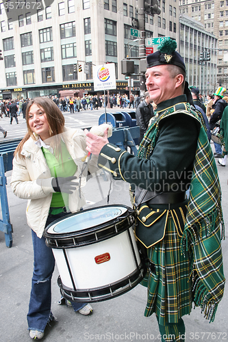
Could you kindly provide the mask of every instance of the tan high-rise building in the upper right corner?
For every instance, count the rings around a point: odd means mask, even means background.
[[[216,86],[228,89],[228,0],[179,0],[180,14],[203,24],[218,40],[216,47]],[[211,53],[212,53],[211,49]]]

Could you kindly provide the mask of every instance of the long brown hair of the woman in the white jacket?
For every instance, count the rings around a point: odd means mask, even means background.
[[[55,105],[55,103],[51,100],[51,98],[48,97],[36,97],[33,98],[29,103],[27,104],[26,108],[26,123],[27,123],[27,133],[25,134],[25,137],[23,137],[23,140],[18,144],[16,147],[16,150],[14,152],[14,157],[24,157],[21,155],[21,151],[23,148],[23,145],[27,140],[29,140],[29,137],[32,137],[35,140],[33,131],[31,131],[31,128],[29,126],[29,110],[32,105],[38,105],[38,107],[42,107],[44,109],[46,115],[47,115],[47,122],[49,124],[49,133],[51,137],[54,137],[53,142],[51,143],[51,146],[53,145],[55,148],[59,148],[60,146],[60,133],[64,131],[64,123],[65,119],[62,115],[62,111],[60,108]]]

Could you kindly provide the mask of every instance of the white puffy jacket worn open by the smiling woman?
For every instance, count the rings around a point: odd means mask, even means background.
[[[77,176],[76,181],[78,181],[81,170],[84,167],[85,157],[88,154],[86,150],[86,135],[81,129],[65,129],[64,133],[62,133],[62,139],[77,165],[75,176]],[[10,185],[16,196],[28,200],[26,210],[27,224],[41,238],[51,205],[53,194],[51,181],[53,177],[51,177],[51,172],[41,148],[35,144],[31,137],[23,145],[21,154],[25,158],[14,157]],[[84,170],[84,175],[81,177],[81,186],[86,185],[88,170],[91,174],[98,170],[97,159],[98,156],[92,155],[88,168]],[[82,192],[81,198],[79,198],[78,187],[68,197],[68,206],[73,213],[78,211],[85,202]]]

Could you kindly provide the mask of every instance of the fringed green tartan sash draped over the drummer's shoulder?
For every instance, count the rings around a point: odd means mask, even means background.
[[[151,124],[140,144],[138,157],[149,159],[153,153],[159,133],[159,122],[162,118],[182,112],[194,116],[201,122],[201,118],[192,107],[188,103],[185,105],[187,105],[187,111],[175,111],[175,107],[170,107]],[[201,122],[181,250],[183,253],[188,250],[192,258],[194,304],[201,306],[205,318],[210,321],[214,321],[225,287],[220,244],[221,239],[224,238],[225,228],[218,171],[205,127]]]

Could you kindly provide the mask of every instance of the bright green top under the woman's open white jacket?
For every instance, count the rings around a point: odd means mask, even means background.
[[[58,157],[50,152],[48,148],[42,147],[42,153],[45,155],[47,165],[51,171],[52,177],[73,176],[77,171],[77,165],[71,158],[66,148],[66,144],[61,140],[61,152]],[[54,192],[51,200],[51,207],[68,207],[68,194],[64,192]]]

